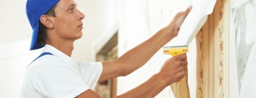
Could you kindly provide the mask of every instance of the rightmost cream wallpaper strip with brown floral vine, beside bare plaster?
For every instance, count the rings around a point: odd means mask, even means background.
[[[229,0],[217,0],[214,13],[214,98],[228,98]]]

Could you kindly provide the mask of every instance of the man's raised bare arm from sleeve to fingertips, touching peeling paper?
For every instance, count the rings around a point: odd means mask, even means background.
[[[103,71],[98,82],[118,76],[126,76],[146,64],[160,48],[178,35],[180,25],[190,11],[191,8],[185,12],[177,13],[169,25],[162,28],[150,39],[130,49],[118,59],[102,62]]]

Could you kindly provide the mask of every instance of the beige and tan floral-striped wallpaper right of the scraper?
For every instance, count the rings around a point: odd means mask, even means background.
[[[196,98],[229,98],[229,0],[217,0],[196,39]]]

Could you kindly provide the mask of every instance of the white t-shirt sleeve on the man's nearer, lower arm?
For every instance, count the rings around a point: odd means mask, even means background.
[[[75,98],[90,89],[79,73],[62,60],[44,63],[34,79],[34,88],[47,98]]]

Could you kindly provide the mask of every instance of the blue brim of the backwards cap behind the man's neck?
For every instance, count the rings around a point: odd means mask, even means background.
[[[33,28],[30,50],[41,49],[42,47],[44,47],[37,43],[38,30],[39,30],[39,22],[37,22],[35,27]]]

